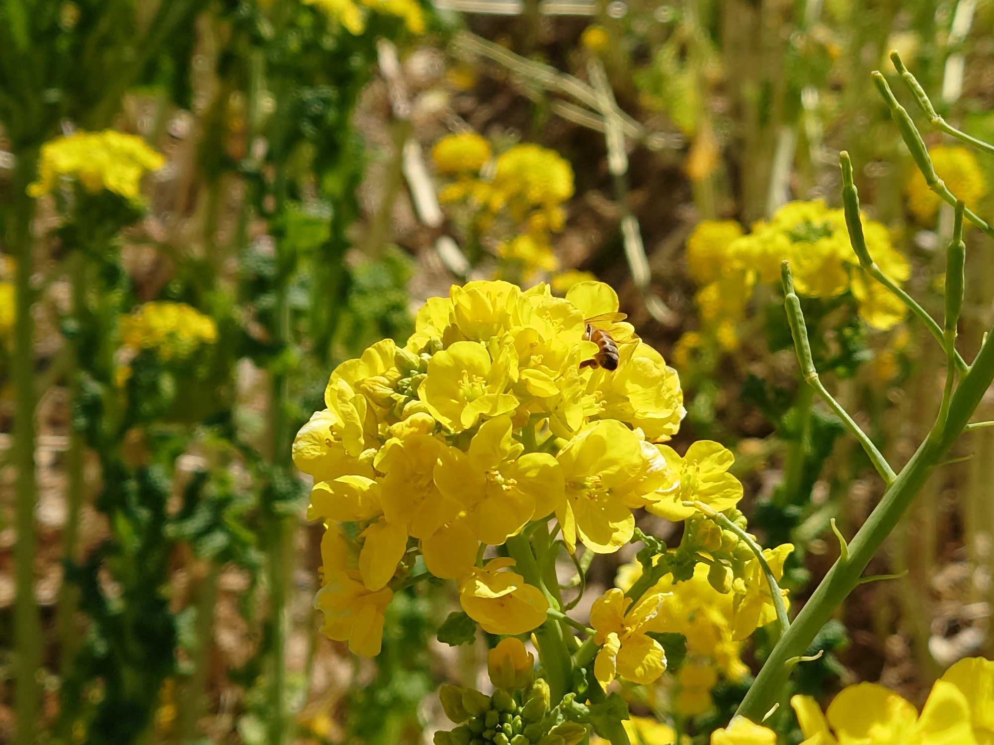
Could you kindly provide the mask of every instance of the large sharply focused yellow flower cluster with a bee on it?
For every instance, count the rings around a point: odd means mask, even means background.
[[[589,364],[585,319],[617,309],[599,282],[565,299],[545,284],[470,282],[429,299],[404,347],[379,342],[332,373],[327,408],[293,446],[315,481],[308,515],[328,526],[316,599],[328,636],[378,654],[392,583],[418,552],[457,581],[484,630],[528,632],[546,618],[544,594],[513,559],[484,564],[482,546],[555,517],[571,551],[610,553],[632,538],[633,509],[685,514],[684,461],[657,444],[684,415],[677,374],[617,321],[605,330],[629,343],[616,370]],[[715,509],[728,502],[719,481],[699,480]]]

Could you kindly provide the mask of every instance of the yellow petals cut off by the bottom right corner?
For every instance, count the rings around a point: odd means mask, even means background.
[[[790,699],[806,738],[802,745],[893,743],[983,745],[994,742],[994,663],[967,658],[932,686],[919,714],[914,705],[877,683],[850,685],[822,714],[810,696]],[[712,733],[711,745],[775,745],[772,730],[737,717]]]

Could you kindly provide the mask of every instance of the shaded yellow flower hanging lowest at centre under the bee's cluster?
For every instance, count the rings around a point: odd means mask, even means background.
[[[483,568],[474,567],[459,586],[462,610],[491,634],[525,634],[545,622],[549,610],[542,590],[517,572],[501,571],[510,566],[514,559],[490,559]]]

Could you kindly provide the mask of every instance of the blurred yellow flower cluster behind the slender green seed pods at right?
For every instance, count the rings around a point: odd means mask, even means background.
[[[892,245],[884,224],[863,221],[867,247],[881,270],[898,284],[911,268]],[[683,364],[713,335],[726,350],[739,344],[737,327],[745,320],[757,282],[780,281],[780,263],[790,261],[800,297],[835,298],[852,293],[860,316],[873,328],[887,330],[905,317],[905,305],[859,265],[849,242],[842,210],[823,200],[791,202],[769,221],[745,233],[734,221],[704,221],[687,240],[687,264],[700,285],[694,297],[704,333],[691,332],[678,343],[674,357]]]

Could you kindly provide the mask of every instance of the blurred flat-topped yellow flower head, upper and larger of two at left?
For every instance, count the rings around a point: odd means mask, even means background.
[[[28,194],[50,194],[63,177],[79,179],[89,192],[106,189],[137,201],[141,177],[165,164],[165,159],[140,138],[113,129],[77,132],[42,145],[38,181]]]

